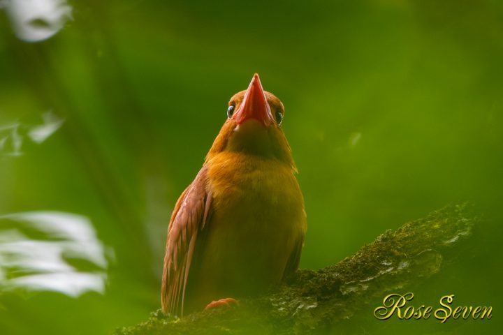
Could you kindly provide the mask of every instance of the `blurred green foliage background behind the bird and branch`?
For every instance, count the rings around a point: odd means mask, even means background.
[[[493,320],[389,325],[500,328],[503,1],[71,4],[73,20],[40,43],[17,39],[0,12],[0,126],[47,110],[65,120],[21,156],[0,151],[0,214],[85,215],[115,260],[105,295],[0,293],[1,334],[106,334],[159,308],[170,211],[254,73],[286,107],[308,219],[300,266],[472,200],[486,218],[483,257],[415,299],[452,293],[492,305]]]

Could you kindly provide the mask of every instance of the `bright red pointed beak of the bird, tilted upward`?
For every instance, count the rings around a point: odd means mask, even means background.
[[[266,128],[272,124],[272,113],[258,74],[255,73],[253,79],[251,79],[245,97],[238,110],[234,113],[233,119],[238,125],[247,119],[256,119]]]

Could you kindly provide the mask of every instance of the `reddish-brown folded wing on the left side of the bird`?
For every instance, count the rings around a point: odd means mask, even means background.
[[[166,241],[161,301],[164,313],[183,313],[185,288],[198,232],[204,228],[211,196],[206,187],[207,168],[180,195],[171,214]]]

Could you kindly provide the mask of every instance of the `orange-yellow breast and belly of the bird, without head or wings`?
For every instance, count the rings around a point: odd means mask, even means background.
[[[191,267],[188,308],[279,282],[306,227],[289,165],[227,151],[207,164],[212,209]]]

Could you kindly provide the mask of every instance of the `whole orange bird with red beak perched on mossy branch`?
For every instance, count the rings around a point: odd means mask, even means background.
[[[171,216],[164,313],[227,304],[298,268],[306,215],[281,126],[283,104],[255,74],[229,101],[227,117]]]

